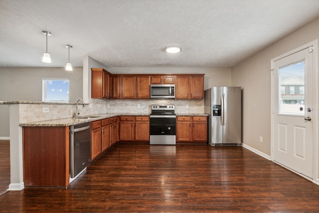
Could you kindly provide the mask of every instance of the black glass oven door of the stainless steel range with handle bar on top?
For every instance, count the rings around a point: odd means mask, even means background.
[[[151,115],[150,135],[176,135],[176,116]]]

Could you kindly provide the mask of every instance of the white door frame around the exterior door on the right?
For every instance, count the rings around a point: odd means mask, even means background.
[[[319,113],[318,113],[318,111],[319,111],[319,105],[318,105],[318,99],[319,99],[318,98],[318,94],[319,94],[318,93],[318,39],[314,40],[312,42],[309,42],[303,46],[300,46],[296,49],[293,49],[289,52],[286,52],[278,57],[271,59],[271,72],[272,73],[271,73],[271,112],[270,112],[270,114],[271,114],[271,148],[270,148],[271,153],[270,153],[270,157],[271,157],[271,160],[274,163],[276,163],[274,161],[274,111],[275,111],[274,110],[275,109],[274,92],[276,92],[276,90],[274,89],[274,87],[275,87],[275,85],[274,85],[274,77],[275,77],[274,76],[274,61],[279,60],[281,58],[284,58],[288,55],[294,54],[295,52],[298,52],[298,51],[303,50],[305,48],[308,48],[310,46],[313,46],[313,57],[314,57],[314,60],[313,60],[314,61],[314,65],[313,65],[313,67],[314,67],[314,82],[313,82],[314,83],[314,97],[313,97],[314,98],[314,151],[313,151],[314,152],[314,170],[313,170],[314,171],[314,176],[313,176],[314,179],[310,179],[307,176],[304,176],[300,173],[296,173],[296,171],[293,171],[287,167],[285,167],[285,168],[319,185],[319,175],[318,175],[318,172],[319,172],[319,170],[318,170],[318,166],[319,166],[319,162],[318,162],[319,161],[319,156],[318,156],[319,155],[319,153],[318,153],[319,152],[318,151],[318,149],[319,149],[319,144],[318,144],[318,137],[319,137],[319,135],[318,135],[318,133],[319,133],[319,130],[318,130],[318,119],[319,119],[319,117],[318,117],[319,116]],[[283,166],[283,165],[281,165],[281,166]]]

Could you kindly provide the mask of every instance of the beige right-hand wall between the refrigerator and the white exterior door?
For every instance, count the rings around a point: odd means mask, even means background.
[[[319,18],[232,67],[232,86],[243,88],[244,144],[271,155],[270,60],[316,39],[319,39]],[[259,142],[259,136],[263,137],[263,143]]]

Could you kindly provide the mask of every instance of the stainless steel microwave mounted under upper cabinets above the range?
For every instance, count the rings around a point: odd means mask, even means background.
[[[174,99],[175,85],[174,84],[151,84],[152,99]]]

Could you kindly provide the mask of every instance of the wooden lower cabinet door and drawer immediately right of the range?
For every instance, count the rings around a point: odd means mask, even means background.
[[[176,141],[191,141],[191,117],[177,116],[176,121]]]

